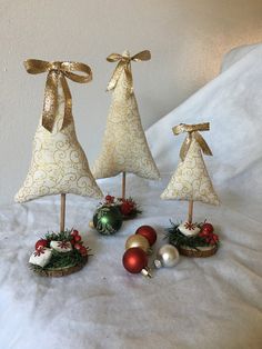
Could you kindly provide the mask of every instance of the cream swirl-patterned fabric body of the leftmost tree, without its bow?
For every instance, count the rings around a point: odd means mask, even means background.
[[[53,131],[41,124],[33,140],[32,161],[22,188],[16,195],[17,202],[26,202],[43,196],[74,193],[101,198],[102,192],[95,183],[87,157],[78,142],[73,118],[61,130],[64,98],[59,88],[59,108]]]

